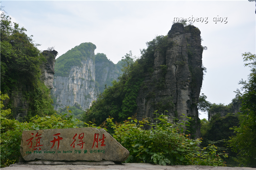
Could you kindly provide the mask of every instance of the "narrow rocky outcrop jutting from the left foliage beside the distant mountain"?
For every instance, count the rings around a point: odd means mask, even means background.
[[[48,51],[44,50],[42,53],[45,56],[46,62],[41,65],[41,76],[40,80],[49,88],[53,88],[53,75],[54,75],[54,65],[55,57],[58,52],[55,50]]]

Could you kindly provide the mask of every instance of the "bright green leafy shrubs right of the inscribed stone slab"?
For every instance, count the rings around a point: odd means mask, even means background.
[[[156,123],[148,124],[151,129],[143,130],[143,124],[149,123],[145,119],[137,121],[129,117],[124,123],[114,123],[112,119],[108,118],[107,122],[114,129],[113,136],[130,152],[126,163],[225,166],[221,157],[228,155],[217,152],[218,147],[209,145],[200,149],[200,139],[189,139],[189,135],[185,135],[189,121],[160,115]]]

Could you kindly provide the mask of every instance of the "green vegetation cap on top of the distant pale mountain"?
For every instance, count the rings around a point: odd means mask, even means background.
[[[81,43],[68,50],[65,54],[56,59],[55,62],[55,75],[68,77],[72,66],[82,67],[81,61],[86,61],[87,58],[92,58],[95,62],[95,56],[93,55],[96,46],[91,42]]]

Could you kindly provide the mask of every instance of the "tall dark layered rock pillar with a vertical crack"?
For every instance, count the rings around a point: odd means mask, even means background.
[[[154,71],[146,74],[137,102],[137,117],[151,118],[158,113],[171,117],[190,115],[194,119],[194,137],[200,136],[200,119],[196,103],[203,81],[200,31],[195,26],[172,25],[168,33],[166,54],[155,52]],[[185,119],[185,118],[182,118]]]

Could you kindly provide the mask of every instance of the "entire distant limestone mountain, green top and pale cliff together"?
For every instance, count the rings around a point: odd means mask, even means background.
[[[51,91],[55,110],[75,103],[86,110],[103,92],[105,84],[111,85],[119,76],[115,64],[103,53],[94,55],[95,49],[92,43],[82,43],[56,60],[57,74]]]

